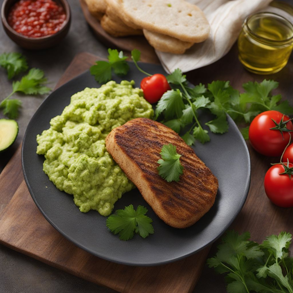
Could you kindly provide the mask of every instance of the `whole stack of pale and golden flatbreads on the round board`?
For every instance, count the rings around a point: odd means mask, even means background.
[[[90,13],[114,37],[144,35],[161,52],[183,54],[209,36],[209,23],[184,0],[85,0]]]

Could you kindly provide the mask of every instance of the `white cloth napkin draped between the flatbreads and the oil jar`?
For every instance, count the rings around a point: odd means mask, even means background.
[[[176,68],[187,72],[217,61],[229,52],[238,38],[243,21],[249,14],[260,10],[277,9],[267,8],[271,0],[187,1],[197,5],[205,13],[211,27],[209,38],[202,43],[193,45],[185,54],[181,55],[156,51],[167,72],[172,72]]]

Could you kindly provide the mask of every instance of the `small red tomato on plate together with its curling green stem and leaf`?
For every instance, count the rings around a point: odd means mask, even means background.
[[[168,84],[166,76],[163,74],[149,74],[142,70],[138,65],[137,62],[140,59],[140,52],[139,50],[132,50],[131,51],[131,58],[137,67],[137,69],[146,74],[147,77],[142,79],[140,83],[140,87],[144,92],[144,98],[151,104],[158,102],[158,100],[163,96],[166,91],[171,90],[171,87]]]

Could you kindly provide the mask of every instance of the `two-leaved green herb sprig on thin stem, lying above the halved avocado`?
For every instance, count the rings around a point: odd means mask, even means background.
[[[21,106],[21,100],[9,99],[14,93],[21,92],[27,95],[43,95],[50,91],[50,88],[44,85],[47,79],[44,77],[44,71],[32,68],[28,74],[23,76],[20,81],[13,81],[12,93],[1,101],[0,108],[4,108],[3,113],[11,119],[18,116],[18,108]]]

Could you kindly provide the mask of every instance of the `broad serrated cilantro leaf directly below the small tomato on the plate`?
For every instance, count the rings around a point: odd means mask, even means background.
[[[185,105],[182,100],[182,93],[176,91],[166,91],[159,100],[156,107],[156,118],[165,110],[164,116],[166,119],[172,119],[174,116],[180,118]]]

